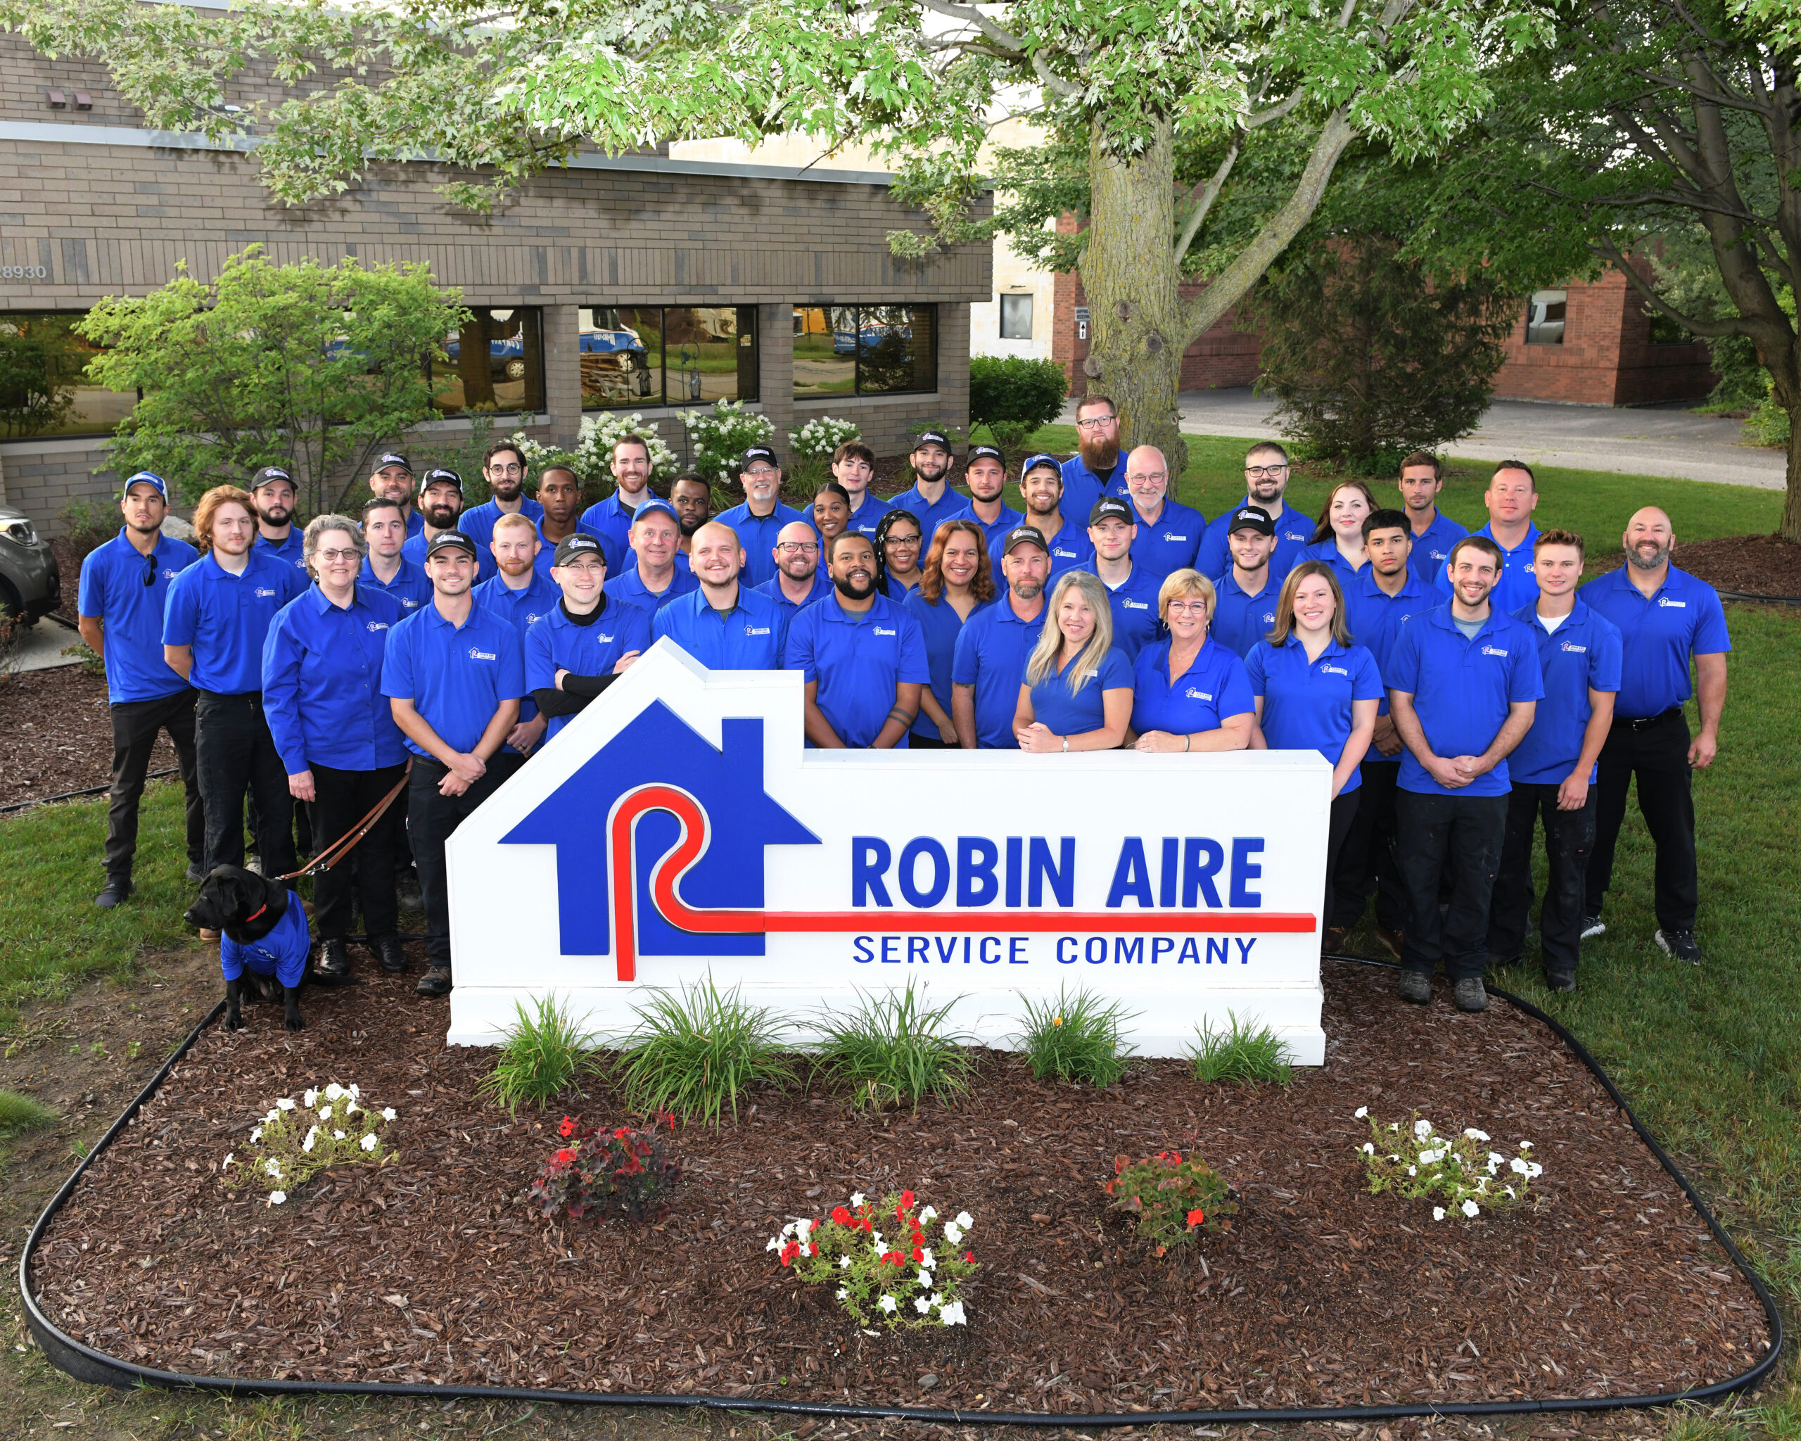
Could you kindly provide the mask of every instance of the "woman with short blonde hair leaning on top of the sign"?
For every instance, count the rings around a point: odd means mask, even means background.
[[[1169,638],[1138,652],[1126,744],[1145,753],[1243,751],[1255,701],[1244,661],[1208,636],[1214,584],[1171,571],[1156,593]]]

